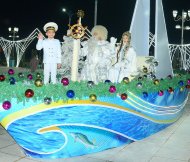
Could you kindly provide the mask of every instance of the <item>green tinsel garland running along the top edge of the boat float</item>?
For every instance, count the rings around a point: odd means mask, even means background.
[[[25,91],[27,89],[32,89],[34,92],[34,96],[32,99],[42,100],[45,97],[50,97],[54,101],[64,100],[67,101],[69,97],[67,96],[68,90],[73,90],[75,95],[73,99],[81,99],[83,97],[88,97],[91,94],[95,94],[97,97],[100,96],[115,96],[116,94],[127,93],[127,91],[131,91],[134,94],[142,95],[143,92],[153,93],[158,92],[159,90],[167,90],[169,87],[173,89],[181,86],[187,85],[187,80],[190,79],[190,74],[180,74],[175,75],[175,77],[165,78],[163,80],[159,80],[158,84],[154,84],[154,80],[144,78],[139,80],[139,78],[135,78],[129,83],[99,83],[97,85],[93,85],[92,87],[88,86],[87,81],[82,82],[72,82],[70,81],[69,85],[64,86],[61,82],[57,84],[48,84],[43,85],[41,87],[37,87],[34,83],[37,79],[37,75],[39,73],[31,73],[33,75],[33,79],[29,80],[27,78],[28,72],[22,73],[24,77],[20,77],[19,73],[15,73],[13,75],[9,75],[8,73],[4,73],[2,75],[5,76],[4,81],[0,81],[0,102],[10,101],[12,98],[16,98],[18,102],[25,102],[29,100],[25,96]],[[43,75],[40,74],[41,79],[43,80]],[[10,78],[13,77],[15,79],[15,84],[10,84]],[[61,80],[61,76],[58,75],[58,79]],[[182,81],[184,85],[179,85],[179,81]],[[137,86],[140,84],[140,86]],[[142,84],[142,86],[141,86]],[[113,85],[116,87],[115,93],[109,92],[109,87]]]

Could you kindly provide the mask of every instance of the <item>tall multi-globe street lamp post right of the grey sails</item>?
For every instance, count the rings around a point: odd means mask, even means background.
[[[184,64],[183,64],[183,60],[186,59],[186,56],[184,55],[184,47],[183,47],[184,38],[183,38],[183,36],[184,36],[184,30],[190,30],[189,26],[184,26],[184,23],[186,21],[190,20],[190,10],[188,10],[188,12],[185,12],[184,10],[182,10],[181,15],[178,15],[178,11],[174,10],[173,17],[174,17],[175,21],[181,21],[181,25],[175,26],[176,29],[181,29],[181,53],[182,53],[182,55],[181,55],[181,58],[180,58],[180,55],[178,55],[178,60],[180,62],[179,63],[180,69],[186,70],[186,67],[184,67]]]

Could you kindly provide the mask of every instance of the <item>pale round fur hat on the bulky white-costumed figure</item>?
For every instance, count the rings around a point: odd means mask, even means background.
[[[108,30],[102,25],[96,25],[92,28],[91,34],[95,35],[97,38],[101,38],[101,40],[106,40],[108,37]]]

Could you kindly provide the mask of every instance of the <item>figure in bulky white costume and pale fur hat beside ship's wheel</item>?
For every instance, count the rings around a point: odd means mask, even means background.
[[[108,31],[102,25],[96,25],[91,33],[92,37],[82,42],[82,55],[86,56],[86,60],[81,71],[81,80],[96,84],[108,79],[107,71],[112,65],[116,39],[111,38],[111,43],[106,41]]]

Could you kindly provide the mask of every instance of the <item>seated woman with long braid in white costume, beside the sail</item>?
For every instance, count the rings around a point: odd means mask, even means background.
[[[131,34],[124,32],[121,44],[117,49],[116,62],[108,71],[108,78],[111,82],[121,82],[124,77],[130,77],[137,73],[136,52],[130,46]]]

